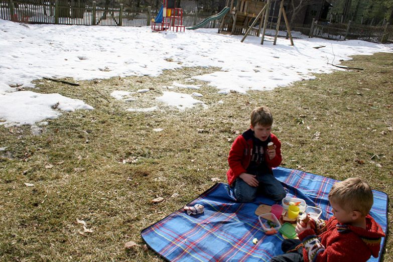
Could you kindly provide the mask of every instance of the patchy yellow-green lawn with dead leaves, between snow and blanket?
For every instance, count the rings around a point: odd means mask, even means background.
[[[282,166],[339,180],[359,176],[391,196],[393,54],[357,56],[344,64],[364,70],[246,95],[220,95],[196,81],[202,85],[198,99],[208,108],[184,111],[154,98],[173,81],[184,84],[217,69],[81,81],[79,87],[36,81],[35,92],[78,98],[95,109],[48,120],[38,136],[30,126],[0,126],[0,260],[162,261],[142,247],[125,250],[124,243],[143,245],[143,228],[210,188],[212,178],[225,182],[231,143],[249,126],[250,111],[264,104],[283,144]],[[133,94],[135,101],[110,96],[144,88],[150,91]],[[126,111],[154,105],[159,110]],[[164,201],[153,204],[157,197]],[[384,261],[393,260],[391,236]]]

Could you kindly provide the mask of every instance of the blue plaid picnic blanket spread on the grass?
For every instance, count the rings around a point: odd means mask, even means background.
[[[281,167],[273,172],[287,189],[287,196],[319,206],[324,219],[332,215],[328,193],[336,180]],[[387,195],[375,190],[373,194],[370,214],[386,233]],[[195,204],[204,205],[203,214],[188,215],[181,208],[142,230],[143,239],[169,261],[269,261],[283,253],[283,236],[266,235],[254,214],[260,204],[274,204],[272,200],[260,196],[253,203],[236,203],[229,186],[217,183],[188,206]],[[252,243],[255,237],[257,244]],[[381,250],[384,242],[383,238]],[[368,261],[379,259],[371,257]]]

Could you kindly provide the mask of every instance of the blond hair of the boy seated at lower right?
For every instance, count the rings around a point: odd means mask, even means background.
[[[334,201],[345,211],[359,211],[366,216],[374,202],[370,186],[358,177],[337,182],[329,192],[329,201]]]

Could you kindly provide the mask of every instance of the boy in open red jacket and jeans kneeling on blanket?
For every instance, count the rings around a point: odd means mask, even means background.
[[[281,143],[271,133],[273,116],[268,107],[251,112],[250,128],[238,136],[229,151],[228,184],[238,202],[252,202],[258,191],[275,201],[286,192],[272,172],[281,164]],[[272,142],[272,149],[268,144]]]

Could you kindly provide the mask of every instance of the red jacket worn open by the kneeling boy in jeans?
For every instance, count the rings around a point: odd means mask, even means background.
[[[242,135],[238,136],[232,144],[228,157],[229,170],[226,173],[229,185],[232,185],[232,183],[241,173],[247,172],[246,169],[250,164],[252,156],[253,136],[253,131],[248,129]],[[281,142],[273,134],[270,134],[270,138],[268,138],[267,142],[273,142],[273,144],[276,146],[276,157],[274,159],[270,159],[268,154],[265,154],[266,163],[270,169],[270,172],[272,172],[272,168],[278,167],[281,164]],[[264,148],[265,152],[267,150],[268,147]]]

